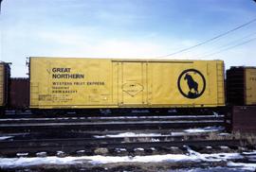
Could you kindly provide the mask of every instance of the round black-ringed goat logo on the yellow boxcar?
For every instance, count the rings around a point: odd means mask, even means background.
[[[181,95],[193,99],[205,92],[206,79],[196,69],[187,69],[178,77],[177,86]]]

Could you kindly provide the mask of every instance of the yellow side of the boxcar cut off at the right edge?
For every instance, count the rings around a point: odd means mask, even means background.
[[[256,105],[256,68],[246,68],[246,104]]]

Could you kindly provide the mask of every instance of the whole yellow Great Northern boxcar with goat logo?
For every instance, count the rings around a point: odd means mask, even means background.
[[[174,108],[225,104],[222,60],[30,58],[30,108]]]

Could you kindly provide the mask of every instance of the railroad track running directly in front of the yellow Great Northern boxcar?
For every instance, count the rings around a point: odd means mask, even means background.
[[[4,118],[0,119],[0,130],[3,132],[37,132],[57,129],[86,131],[117,129],[188,129],[224,126],[224,121],[224,115]]]

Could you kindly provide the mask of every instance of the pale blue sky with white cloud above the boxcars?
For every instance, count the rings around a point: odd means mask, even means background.
[[[256,66],[256,22],[158,58],[254,18],[253,0],[3,0],[0,60],[12,62],[12,77],[27,76],[31,56],[218,59],[225,60],[226,68]],[[215,54],[240,43],[245,44]]]

